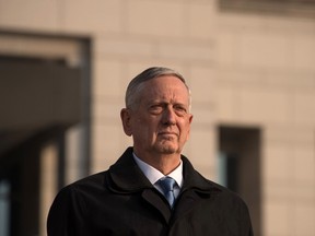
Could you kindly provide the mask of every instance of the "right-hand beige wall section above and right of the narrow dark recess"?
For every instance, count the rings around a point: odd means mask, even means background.
[[[315,235],[315,21],[217,20],[218,119],[262,129],[264,235]]]

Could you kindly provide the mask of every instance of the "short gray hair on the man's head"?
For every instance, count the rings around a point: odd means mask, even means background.
[[[187,87],[188,94],[189,94],[189,110],[190,110],[190,104],[191,104],[191,96],[190,96],[190,90],[186,83],[186,80],[184,76],[178,73],[177,71],[170,69],[170,68],[164,68],[164,67],[152,67],[149,68],[144,71],[142,71],[140,74],[138,74],[136,78],[133,78],[126,91],[126,96],[125,96],[125,103],[127,108],[135,108],[135,106],[138,105],[139,101],[139,95],[142,90],[142,84],[143,82],[147,82],[149,80],[159,78],[159,76],[164,76],[164,75],[173,75],[178,78],[184,85]]]

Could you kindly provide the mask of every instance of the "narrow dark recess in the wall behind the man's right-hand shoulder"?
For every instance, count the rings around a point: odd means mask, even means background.
[[[219,181],[246,201],[256,236],[261,220],[260,146],[258,128],[219,128]]]

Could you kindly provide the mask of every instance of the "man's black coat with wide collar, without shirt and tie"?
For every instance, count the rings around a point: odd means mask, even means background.
[[[173,210],[129,148],[108,170],[61,189],[49,211],[48,236],[253,236],[244,201],[182,161],[184,185]]]

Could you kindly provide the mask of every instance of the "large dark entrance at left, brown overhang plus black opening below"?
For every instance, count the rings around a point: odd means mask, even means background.
[[[80,70],[61,59],[0,57],[3,236],[38,235],[40,151],[48,141],[58,143],[56,177],[62,186],[65,132],[80,122]]]

